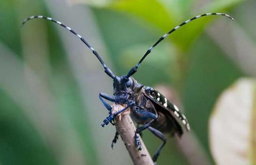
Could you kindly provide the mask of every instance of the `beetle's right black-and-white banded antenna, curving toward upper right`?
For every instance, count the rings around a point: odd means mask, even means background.
[[[158,41],[151,47],[149,47],[149,49],[147,50],[147,52],[144,54],[144,56],[141,58],[141,60],[135,65],[135,67],[131,68],[131,70],[128,72],[128,74],[126,75],[126,77],[130,77],[131,75],[133,75],[135,72],[137,72],[138,68],[140,67],[140,64],[141,62],[147,57],[147,55],[153,50],[153,48],[159,44],[159,42],[161,42],[165,37],[167,37],[168,35],[170,35],[172,32],[174,32],[175,30],[177,30],[178,28],[180,28],[181,26],[183,25],[186,25],[187,23],[195,20],[195,19],[198,19],[198,18],[201,18],[201,17],[204,17],[204,16],[208,16],[208,15],[223,15],[225,17],[228,17],[230,18],[231,20],[234,21],[234,19],[228,15],[228,14],[223,14],[223,13],[205,13],[205,14],[202,14],[202,15],[198,15],[198,16],[195,16],[185,22],[183,22],[182,24],[174,27],[171,31],[169,31],[167,34],[164,34],[160,39],[158,39]]]

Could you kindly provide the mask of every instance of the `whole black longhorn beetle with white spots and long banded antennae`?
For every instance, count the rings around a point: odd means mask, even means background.
[[[159,44],[165,37],[170,35],[172,32],[180,28],[181,26],[193,21],[195,19],[207,16],[207,15],[223,15],[225,17],[234,20],[230,15],[223,14],[223,13],[205,13],[202,15],[198,15],[193,17],[190,20],[183,22],[182,24],[174,27],[171,31],[164,34],[157,42],[151,46],[144,56],[140,59],[140,61],[135,65],[135,67],[131,68],[130,71],[123,76],[116,76],[114,73],[107,67],[107,65],[103,62],[100,58],[98,53],[94,50],[94,48],[89,45],[89,43],[80,36],[77,32],[72,30],[69,26],[64,25],[63,23],[56,21],[49,17],[44,17],[42,15],[38,16],[31,16],[25,19],[22,22],[24,25],[27,21],[32,19],[46,19],[57,23],[64,28],[68,29],[72,34],[76,35],[80,40],[85,43],[87,47],[93,52],[93,54],[98,58],[100,63],[103,66],[104,72],[107,73],[113,79],[113,88],[114,88],[114,96],[107,95],[105,93],[100,93],[99,98],[103,105],[108,109],[109,116],[103,121],[101,124],[102,127],[111,123],[114,125],[114,118],[117,114],[124,112],[126,109],[131,109],[131,118],[137,122],[138,124],[142,124],[141,127],[137,128],[134,135],[134,142],[138,146],[138,150],[141,150],[141,142],[139,140],[139,134],[144,129],[149,129],[155,136],[160,138],[163,143],[158,148],[157,152],[153,156],[153,161],[156,162],[162,147],[166,142],[166,138],[163,133],[170,133],[172,136],[177,135],[179,137],[183,134],[182,125],[185,126],[187,131],[190,131],[189,123],[183,113],[179,111],[179,109],[170,102],[166,97],[164,97],[160,92],[157,90],[141,85],[131,77],[135,72],[137,72],[138,68],[140,67],[141,62],[147,57],[147,55],[153,50],[153,48]],[[105,101],[108,100],[110,102],[114,102],[116,104],[126,104],[126,107],[118,112],[112,113],[111,106]],[[115,134],[114,140],[112,141],[112,148],[113,144],[116,143],[118,139],[118,133]]]

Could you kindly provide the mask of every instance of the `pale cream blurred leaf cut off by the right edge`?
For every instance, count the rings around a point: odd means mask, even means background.
[[[209,123],[210,146],[217,164],[255,164],[256,81],[241,78],[225,90]],[[229,153],[229,154],[227,154]]]

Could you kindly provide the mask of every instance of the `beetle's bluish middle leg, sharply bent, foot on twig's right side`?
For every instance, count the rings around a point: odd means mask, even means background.
[[[145,120],[153,119],[152,121],[148,122],[147,124],[136,129],[134,140],[135,140],[136,145],[138,146],[138,150],[141,150],[141,142],[139,139],[139,134],[144,129],[148,128],[150,125],[152,125],[153,123],[156,122],[157,115],[152,112],[149,112],[147,110],[136,110],[135,112],[138,113],[141,116],[141,118],[144,118]]]

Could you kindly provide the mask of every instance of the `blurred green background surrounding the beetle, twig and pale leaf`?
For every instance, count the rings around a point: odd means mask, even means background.
[[[65,28],[83,36],[117,75],[126,74],[147,48],[176,25],[205,12],[235,18],[198,19],[175,31],[134,75],[146,86],[177,93],[192,132],[168,138],[158,164],[215,164],[208,120],[219,94],[241,76],[255,76],[256,1],[153,0],[0,1],[0,164],[132,164],[99,92],[112,81],[91,51]],[[176,91],[176,92],[174,92]],[[161,141],[147,130],[153,154]]]

